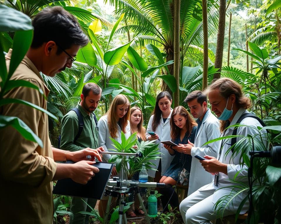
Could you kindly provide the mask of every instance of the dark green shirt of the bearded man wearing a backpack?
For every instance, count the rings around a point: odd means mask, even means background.
[[[75,111],[69,111],[66,115],[64,115],[61,120],[61,149],[73,152],[87,147],[98,148],[98,131],[94,115],[92,113],[88,115],[79,103],[76,107],[83,117],[83,130],[74,144],[73,140],[78,134],[77,114]]]

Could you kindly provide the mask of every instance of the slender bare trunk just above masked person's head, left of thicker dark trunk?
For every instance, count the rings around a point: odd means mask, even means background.
[[[208,86],[208,16],[207,16],[207,0],[202,0],[202,19],[203,19],[203,36],[204,36],[204,61],[203,61],[203,85],[204,90]]]

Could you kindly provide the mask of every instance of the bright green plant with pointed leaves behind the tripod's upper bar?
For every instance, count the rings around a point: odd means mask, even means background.
[[[158,144],[155,144],[154,141],[142,141],[138,142],[136,139],[136,133],[132,134],[128,139],[126,139],[125,134],[121,132],[121,143],[110,138],[113,142],[112,146],[115,149],[115,152],[119,153],[143,153],[142,157],[126,157],[122,155],[112,155],[108,162],[112,162],[116,164],[117,172],[120,172],[121,169],[124,171],[124,175],[127,176],[128,179],[131,179],[133,175],[141,170],[142,164],[145,164],[146,169],[153,169],[151,165],[155,165],[151,162],[151,160],[157,160],[160,158],[157,156],[158,152]],[[138,148],[134,149],[133,146],[137,145]],[[128,166],[129,164],[129,166]]]

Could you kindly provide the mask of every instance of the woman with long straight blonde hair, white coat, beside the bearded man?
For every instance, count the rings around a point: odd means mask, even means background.
[[[97,122],[99,128],[99,147],[102,146],[104,151],[113,152],[113,142],[109,138],[113,138],[121,143],[121,131],[124,132],[126,139],[131,135],[130,131],[130,102],[124,95],[117,95],[109,110],[103,115]],[[108,162],[110,155],[104,154],[102,156],[103,162]],[[112,175],[116,176],[117,171],[114,166],[112,169]],[[107,198],[103,198],[99,203],[99,213],[103,217],[107,204]]]

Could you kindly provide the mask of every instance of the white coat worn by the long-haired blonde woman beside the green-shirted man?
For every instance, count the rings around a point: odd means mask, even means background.
[[[109,132],[109,127],[108,127],[108,120],[107,120],[107,115],[104,115],[100,118],[100,120],[97,122],[97,127],[99,128],[99,147],[102,146],[104,148],[104,151],[106,152],[114,152],[112,149],[115,149],[114,146],[112,146],[113,142],[109,138],[111,137],[110,132]],[[119,125],[117,125],[117,138],[114,138],[116,141],[121,143],[121,128]],[[130,122],[127,122],[126,126],[126,139],[128,139],[131,135],[131,130],[130,130]],[[109,158],[111,155],[104,154],[102,155],[102,161],[103,162],[108,162]]]

